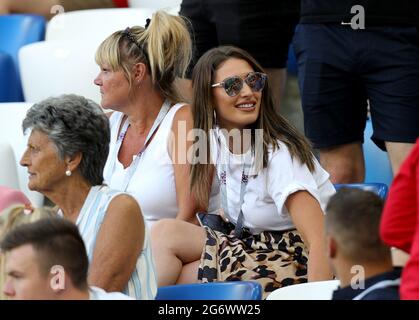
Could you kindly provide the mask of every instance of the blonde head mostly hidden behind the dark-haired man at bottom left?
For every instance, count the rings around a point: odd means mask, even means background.
[[[0,241],[4,236],[17,226],[25,223],[33,223],[43,218],[51,218],[56,216],[51,208],[33,209],[29,206],[14,205],[0,213]],[[3,285],[6,279],[4,269],[4,255],[0,252],[0,300],[5,300],[3,293]]]

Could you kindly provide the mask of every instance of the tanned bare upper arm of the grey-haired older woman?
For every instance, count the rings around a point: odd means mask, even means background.
[[[105,291],[123,291],[144,245],[145,226],[137,202],[115,197],[100,227],[89,268],[89,285]]]

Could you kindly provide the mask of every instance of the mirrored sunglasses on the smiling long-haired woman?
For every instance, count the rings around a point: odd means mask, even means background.
[[[211,87],[223,87],[230,97],[237,96],[243,89],[243,82],[249,86],[253,92],[262,91],[265,87],[267,75],[261,72],[250,72],[242,79],[239,76],[228,77],[222,82],[214,83]]]

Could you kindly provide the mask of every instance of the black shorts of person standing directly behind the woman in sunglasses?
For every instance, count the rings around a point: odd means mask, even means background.
[[[195,64],[209,49],[234,45],[264,68],[285,68],[299,19],[296,0],[183,0],[192,24]]]

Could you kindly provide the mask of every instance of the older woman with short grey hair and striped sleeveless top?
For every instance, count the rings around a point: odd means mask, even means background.
[[[89,285],[153,299],[156,276],[141,209],[103,184],[110,131],[101,108],[76,95],[49,98],[29,109],[23,130],[31,131],[20,161],[28,168],[29,189],[79,227]]]

